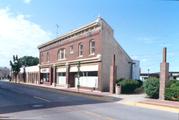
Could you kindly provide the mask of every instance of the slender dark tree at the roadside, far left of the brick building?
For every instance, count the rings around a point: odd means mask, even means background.
[[[10,66],[11,66],[11,70],[12,73],[15,77],[15,82],[17,81],[17,75],[20,72],[20,68],[21,68],[21,64],[20,64],[20,59],[18,58],[18,56],[13,55],[13,61],[10,60]]]

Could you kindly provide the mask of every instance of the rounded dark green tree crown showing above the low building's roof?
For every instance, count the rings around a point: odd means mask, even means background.
[[[20,58],[21,66],[33,66],[39,64],[39,58],[32,56],[24,56]]]

